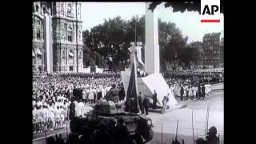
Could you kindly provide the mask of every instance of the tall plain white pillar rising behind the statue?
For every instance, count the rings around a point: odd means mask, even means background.
[[[150,2],[146,2],[145,70],[148,74],[159,74],[158,12],[148,10],[149,6]]]

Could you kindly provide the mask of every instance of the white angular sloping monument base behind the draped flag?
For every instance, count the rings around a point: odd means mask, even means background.
[[[129,86],[130,80],[130,71],[122,71],[122,83],[127,94],[127,89]],[[153,104],[153,94],[154,90],[156,90],[158,94],[158,102],[157,108],[162,108],[162,99],[167,94],[169,96],[169,102],[167,102],[167,106],[174,107],[178,106],[178,102],[174,98],[174,94],[170,91],[169,86],[167,85],[165,79],[162,77],[162,74],[150,74],[143,78],[137,78],[138,82],[138,93],[141,92],[142,95],[147,95],[150,98],[150,106]]]

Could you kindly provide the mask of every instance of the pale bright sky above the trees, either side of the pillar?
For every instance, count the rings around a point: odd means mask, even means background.
[[[114,18],[120,16],[129,20],[134,15],[141,17],[146,11],[145,2],[82,2],[82,29],[90,28],[102,24],[104,18]],[[200,15],[197,11],[192,12],[172,12],[172,8],[165,8],[164,3],[157,6],[158,18],[165,22],[174,22],[182,30],[184,36],[188,36],[188,42],[201,41],[205,33],[221,32],[224,30],[223,14],[221,22],[201,23]]]

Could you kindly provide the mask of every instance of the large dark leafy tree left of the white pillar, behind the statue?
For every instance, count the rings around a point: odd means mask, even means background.
[[[84,43],[91,50],[97,51],[102,58],[113,59],[115,65],[126,65],[129,59],[130,42],[135,40],[135,23],[137,41],[145,41],[145,17],[134,16],[130,21],[117,16],[94,26],[90,32],[84,31]],[[117,66],[114,66],[117,67]]]

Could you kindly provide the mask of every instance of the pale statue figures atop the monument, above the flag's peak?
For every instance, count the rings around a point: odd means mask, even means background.
[[[145,64],[142,62],[142,42],[137,42],[137,46],[135,46],[134,42],[130,42],[130,70],[134,63],[134,57],[137,62],[137,66],[141,70],[145,70]]]

